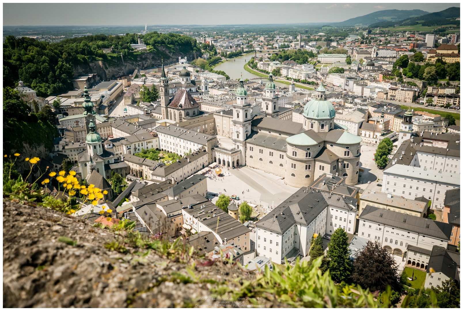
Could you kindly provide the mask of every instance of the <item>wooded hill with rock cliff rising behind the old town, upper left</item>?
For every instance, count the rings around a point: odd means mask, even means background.
[[[160,66],[161,58],[171,63],[178,56],[189,59],[199,56],[196,39],[179,34],[156,31],[140,35],[148,46],[147,52],[134,51],[130,44],[138,43],[135,34],[125,36],[95,35],[48,43],[8,36],[3,44],[3,85],[14,87],[19,80],[37,91],[38,96],[63,93],[72,89],[75,75],[98,73],[107,80],[133,72],[138,68]],[[117,53],[102,49],[114,47]],[[125,71],[120,53],[125,62]]]

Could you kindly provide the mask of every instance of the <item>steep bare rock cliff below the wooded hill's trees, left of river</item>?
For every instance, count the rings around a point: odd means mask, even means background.
[[[124,57],[125,63],[125,72],[124,66],[122,63],[121,57],[113,59],[111,62],[105,61],[93,61],[88,64],[80,64],[74,66],[74,76],[85,75],[96,73],[100,76],[100,79],[103,81],[108,81],[125,75],[131,75],[135,69],[146,69],[153,67],[161,67],[161,56],[164,56],[164,64],[169,64],[172,62],[178,62],[179,56],[182,58],[187,56],[188,62],[198,58],[200,52],[189,52],[181,53],[176,51],[175,53],[170,54],[168,50],[163,47],[159,47],[160,53],[156,52],[146,52],[138,55],[137,60],[131,60],[127,57]]]

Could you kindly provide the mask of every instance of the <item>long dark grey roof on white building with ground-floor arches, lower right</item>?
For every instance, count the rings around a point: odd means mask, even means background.
[[[389,211],[371,205],[365,206],[359,220],[369,220],[402,230],[413,231],[439,239],[450,240],[451,224],[444,224],[432,219],[406,215],[398,211]],[[405,220],[405,221],[404,221]]]

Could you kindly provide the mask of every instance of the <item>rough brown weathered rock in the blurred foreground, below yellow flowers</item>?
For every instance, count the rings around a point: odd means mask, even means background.
[[[60,236],[77,243],[59,242]],[[105,248],[114,238],[112,231],[87,220],[4,201],[4,307],[225,307],[224,300],[213,300],[215,288],[238,289],[240,282],[256,278],[222,261],[193,266],[193,262],[170,261],[154,251],[146,254],[146,249],[129,249],[124,255]],[[191,276],[188,267],[196,276],[186,281]],[[258,303],[287,306],[275,301]],[[246,300],[234,303],[248,305]]]

